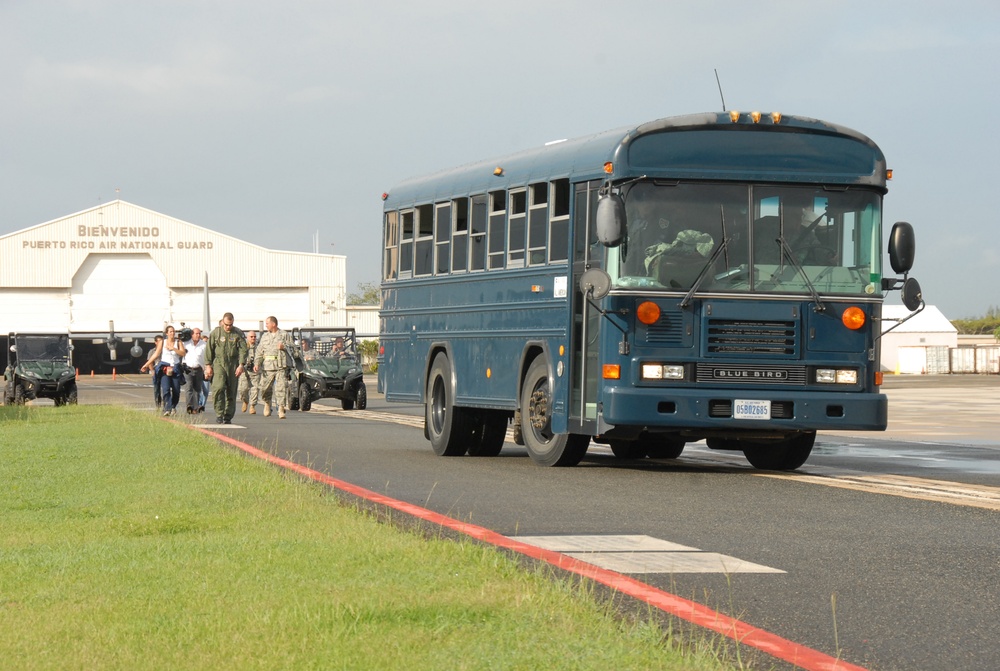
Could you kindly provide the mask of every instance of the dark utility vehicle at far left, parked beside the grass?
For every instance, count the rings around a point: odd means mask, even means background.
[[[10,356],[4,370],[4,405],[23,405],[51,398],[56,405],[76,403],[69,336],[65,333],[11,333]]]

